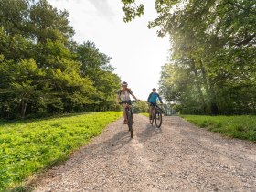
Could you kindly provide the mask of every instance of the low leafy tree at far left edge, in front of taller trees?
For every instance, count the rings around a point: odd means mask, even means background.
[[[4,60],[3,57],[0,74],[5,78],[5,84],[1,84],[0,92],[3,94],[2,103],[5,103],[4,112],[12,110],[11,106],[16,105],[15,109],[20,111],[24,118],[27,104],[40,95],[37,85],[44,73],[38,69],[34,59],[22,59],[16,64],[12,60]]]

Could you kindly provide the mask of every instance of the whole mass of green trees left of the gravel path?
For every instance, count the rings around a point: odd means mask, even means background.
[[[0,2],[0,118],[115,109],[120,78],[47,0]]]

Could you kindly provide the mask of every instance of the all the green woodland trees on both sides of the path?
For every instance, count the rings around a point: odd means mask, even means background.
[[[143,16],[144,5],[121,1],[124,22]],[[171,43],[165,101],[184,114],[255,114],[255,3],[155,0],[155,9],[148,27]],[[0,1],[0,118],[116,110],[111,58],[74,34],[69,12],[47,0]]]

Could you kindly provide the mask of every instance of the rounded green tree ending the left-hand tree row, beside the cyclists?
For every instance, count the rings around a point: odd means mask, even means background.
[[[95,95],[94,108],[99,111],[112,109],[115,103],[115,94],[120,86],[120,78],[113,74],[114,68],[110,65],[111,58],[101,53],[93,42],[85,42],[75,49],[77,60],[80,61],[80,73],[89,77],[98,91]]]

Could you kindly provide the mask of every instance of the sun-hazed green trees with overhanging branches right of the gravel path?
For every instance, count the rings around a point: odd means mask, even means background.
[[[160,27],[158,36],[168,34],[172,45],[160,80],[165,101],[183,113],[256,113],[254,2],[155,0],[155,8],[148,27]]]

